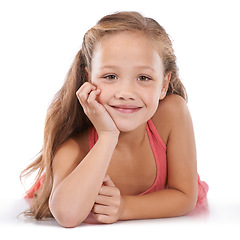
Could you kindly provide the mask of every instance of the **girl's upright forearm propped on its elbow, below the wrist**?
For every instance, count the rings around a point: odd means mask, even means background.
[[[61,225],[78,225],[88,216],[116,144],[116,138],[99,138],[81,163],[56,187],[49,203]]]

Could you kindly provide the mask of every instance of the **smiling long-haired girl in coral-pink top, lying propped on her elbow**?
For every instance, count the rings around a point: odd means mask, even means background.
[[[187,96],[165,30],[136,12],[84,36],[50,105],[26,214],[64,227],[185,215],[206,198]],[[88,217],[89,216],[89,217]]]

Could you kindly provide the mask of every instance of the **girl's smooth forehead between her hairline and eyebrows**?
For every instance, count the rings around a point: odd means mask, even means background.
[[[149,38],[138,32],[120,32],[101,38],[93,51],[92,66],[123,64],[159,68],[162,59]]]

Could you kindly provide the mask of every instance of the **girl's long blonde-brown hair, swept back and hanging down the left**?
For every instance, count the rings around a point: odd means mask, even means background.
[[[38,220],[52,217],[48,201],[53,182],[53,157],[63,142],[92,126],[75,93],[87,81],[85,67],[91,69],[96,42],[103,36],[120,31],[139,31],[158,46],[159,54],[163,60],[164,74],[171,72],[167,94],[178,94],[187,101],[185,88],[178,76],[172,42],[164,28],[155,20],[143,17],[137,12],[119,12],[103,17],[96,26],[84,35],[82,48],[73,61],[65,83],[48,108],[43,148],[36,160],[21,173],[21,177],[24,177],[38,171],[36,182],[44,174],[43,184],[34,194],[30,209],[25,212],[25,215]]]

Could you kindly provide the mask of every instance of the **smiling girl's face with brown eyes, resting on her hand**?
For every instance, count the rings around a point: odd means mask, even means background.
[[[166,95],[162,59],[139,33],[103,38],[94,49],[91,68],[91,82],[101,90],[97,100],[122,132],[146,123]]]

